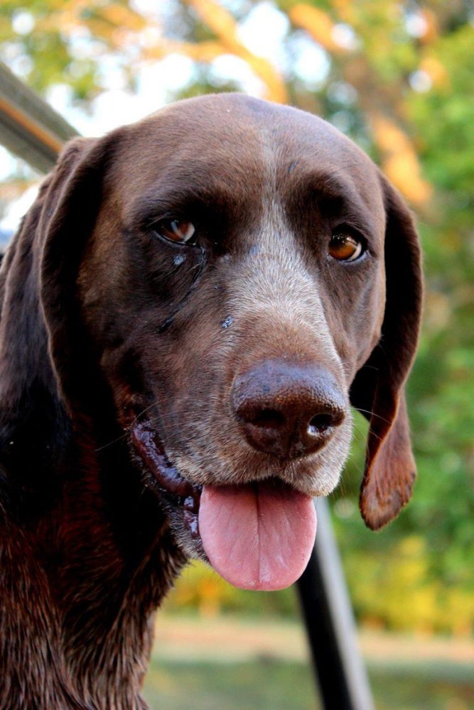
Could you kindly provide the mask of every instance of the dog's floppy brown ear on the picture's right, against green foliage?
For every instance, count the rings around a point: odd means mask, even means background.
[[[416,467],[411,453],[404,386],[419,337],[423,287],[414,222],[402,197],[381,175],[387,214],[387,300],[382,337],[357,372],[350,400],[370,420],[360,510],[378,530],[411,497]]]

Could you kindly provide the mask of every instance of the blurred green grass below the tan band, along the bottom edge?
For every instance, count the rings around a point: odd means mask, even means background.
[[[370,665],[377,710],[469,710],[473,669],[454,663]],[[151,710],[316,710],[303,662],[173,662],[153,658],[146,680]]]

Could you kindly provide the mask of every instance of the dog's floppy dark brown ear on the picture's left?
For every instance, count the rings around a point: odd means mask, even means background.
[[[43,246],[40,294],[48,332],[48,351],[58,388],[69,413],[91,388],[80,319],[76,280],[103,193],[103,175],[114,133],[105,138],[76,139],[66,146],[50,187],[52,197],[41,225]],[[92,386],[94,386],[92,384]]]

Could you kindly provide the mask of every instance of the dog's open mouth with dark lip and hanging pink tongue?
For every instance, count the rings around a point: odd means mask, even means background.
[[[171,466],[156,430],[131,431],[153,487],[181,510],[193,547],[224,579],[241,589],[276,590],[301,576],[313,550],[313,500],[277,479],[235,486],[198,486]]]

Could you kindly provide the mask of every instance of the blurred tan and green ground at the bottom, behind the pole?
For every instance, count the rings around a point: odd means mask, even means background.
[[[363,630],[377,710],[474,708],[473,640]],[[161,615],[151,710],[321,710],[301,623]],[[331,709],[338,710],[338,709]]]

